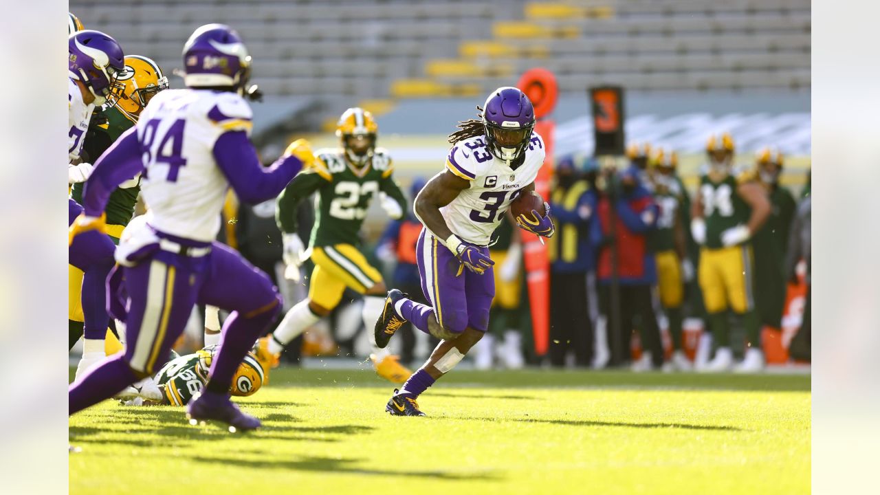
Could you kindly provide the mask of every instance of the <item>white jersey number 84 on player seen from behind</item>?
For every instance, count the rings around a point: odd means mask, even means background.
[[[227,131],[250,133],[252,115],[234,92],[175,89],[150,100],[137,122],[148,224],[186,239],[216,238],[229,182],[214,144]]]

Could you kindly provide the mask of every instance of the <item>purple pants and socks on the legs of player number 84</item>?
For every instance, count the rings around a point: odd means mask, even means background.
[[[207,246],[163,237],[185,246]],[[125,354],[108,358],[70,386],[70,414],[115,395],[136,381],[135,372],[152,374],[163,366],[195,304],[233,312],[224,322],[208,384],[213,391],[229,390],[247,351],[281,309],[281,299],[266,274],[238,252],[218,242],[211,246],[209,255],[202,257],[159,251],[125,269],[129,297]]]

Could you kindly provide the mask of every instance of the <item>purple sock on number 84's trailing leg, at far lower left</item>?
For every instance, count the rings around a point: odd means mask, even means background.
[[[67,390],[68,414],[108,399],[137,381],[135,372],[120,354],[95,366],[82,380],[70,384]]]

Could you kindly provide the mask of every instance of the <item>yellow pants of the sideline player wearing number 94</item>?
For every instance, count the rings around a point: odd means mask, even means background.
[[[754,307],[752,246],[700,249],[700,289],[709,314],[728,307],[743,314]]]

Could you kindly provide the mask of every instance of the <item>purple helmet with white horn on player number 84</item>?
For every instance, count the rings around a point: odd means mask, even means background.
[[[231,87],[243,93],[251,77],[251,55],[230,26],[206,24],[183,46],[187,87]]]

